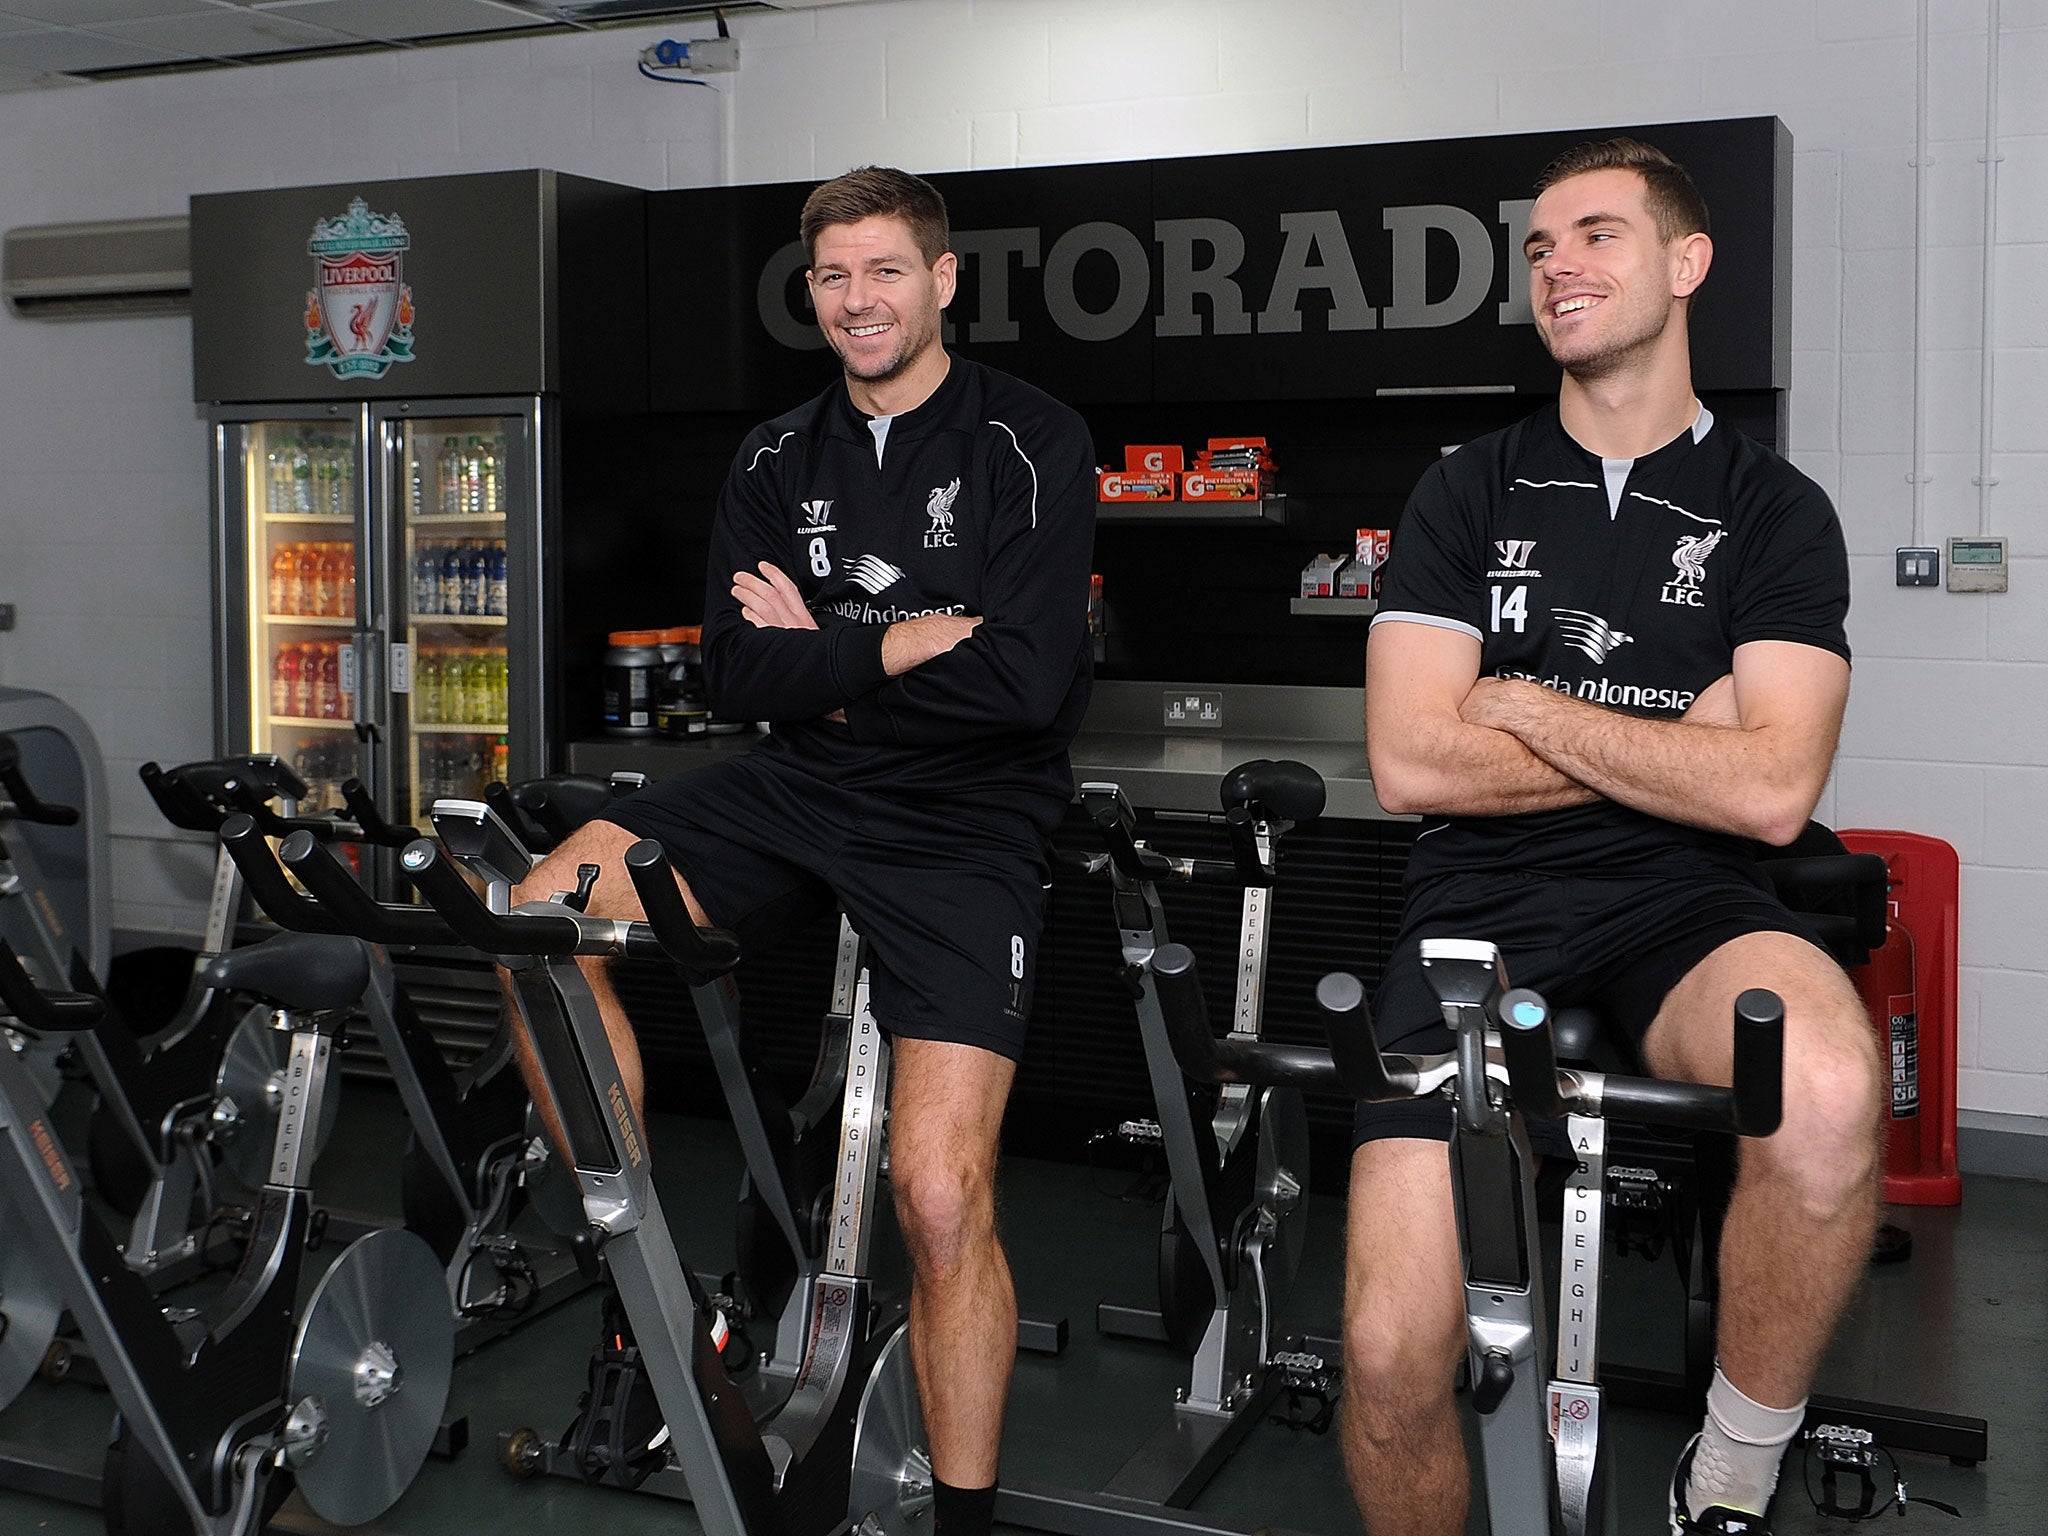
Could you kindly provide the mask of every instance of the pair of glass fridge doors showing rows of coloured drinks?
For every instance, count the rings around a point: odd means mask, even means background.
[[[223,752],[422,829],[545,772],[541,430],[539,399],[217,412]]]

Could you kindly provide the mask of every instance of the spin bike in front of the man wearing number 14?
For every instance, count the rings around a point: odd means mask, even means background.
[[[1784,1004],[1751,989],[1735,1001],[1735,1085],[1671,1083],[1559,1069],[1550,1008],[1509,989],[1499,950],[1477,940],[1423,940],[1421,965],[1456,1049],[1382,1055],[1364,985],[1323,977],[1317,1001],[1329,1049],[1217,1038],[1194,954],[1167,944],[1153,983],[1182,1069],[1212,1083],[1298,1083],[1358,1100],[1448,1098],[1458,1249],[1464,1266],[1468,1374],[1481,1423],[1485,1497],[1495,1536],[1597,1536],[1604,1528],[1599,1419],[1599,1262],[1608,1118],[1765,1137],[1782,1110]],[[1565,1192],[1556,1360],[1536,1229],[1536,1174],[1524,1118],[1565,1116],[1577,1167]]]

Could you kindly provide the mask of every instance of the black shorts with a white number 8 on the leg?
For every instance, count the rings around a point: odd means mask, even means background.
[[[748,752],[604,819],[659,842],[750,952],[840,905],[868,940],[874,1020],[891,1034],[1024,1055],[1049,870],[1020,811],[848,791]]]

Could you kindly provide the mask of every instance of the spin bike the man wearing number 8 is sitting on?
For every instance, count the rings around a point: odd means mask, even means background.
[[[524,868],[526,852],[483,803],[440,801],[434,827],[440,844],[414,842],[399,862],[449,930],[510,971],[582,1192],[588,1225],[578,1251],[592,1274],[600,1262],[610,1272],[635,1335],[637,1366],[668,1427],[651,1458],[604,1464],[600,1456],[598,1466],[580,1470],[688,1497],[713,1536],[825,1536],[850,1524],[877,1536],[926,1526],[932,1475],[905,1309],[879,1298],[868,1280],[889,1049],[868,1010],[864,973],[846,977],[844,987],[846,1092],[825,1204],[797,1208],[774,1194],[786,1190],[774,1157],[791,1137],[788,1116],[776,1124],[762,1114],[750,1083],[743,1100],[735,1098],[750,1176],[770,1192],[774,1225],[801,1249],[776,1346],[743,1389],[721,1358],[725,1317],[682,1264],[662,1217],[645,1128],[621,1087],[596,999],[575,965],[580,954],[666,958],[690,983],[707,1032],[737,1030],[731,985],[737,940],[694,928],[653,842],[627,854],[647,911],[647,922],[629,924],[586,915],[596,866],[580,870],[578,891],[506,909],[508,874]],[[293,834],[279,856],[309,889],[334,899],[330,911],[342,926],[362,928],[387,911],[352,883],[344,891],[332,877],[315,874],[326,850],[309,836]],[[471,891],[457,862],[483,879],[485,897]],[[745,1104],[756,1106],[752,1124]],[[530,1432],[506,1442],[508,1462],[526,1473],[551,1470],[547,1462],[575,1454],[569,1442],[549,1446]]]

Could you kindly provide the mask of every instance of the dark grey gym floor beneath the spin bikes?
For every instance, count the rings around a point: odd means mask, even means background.
[[[322,1198],[342,1208],[395,1208],[403,1139],[395,1096],[348,1083],[342,1124],[317,1169]],[[739,1169],[729,1128],[657,1116],[651,1139],[678,1245],[705,1270],[727,1268]],[[1004,1231],[1020,1303],[1026,1313],[1069,1321],[1063,1356],[1018,1358],[1004,1473],[1094,1489],[1167,1413],[1176,1384],[1188,1378],[1186,1364],[1163,1346],[1106,1339],[1094,1329],[1098,1300],[1147,1300],[1159,1204],[1126,1167],[1012,1159],[1004,1180]],[[1960,1208],[1888,1214],[1913,1233],[1913,1257],[1872,1268],[1819,1389],[1989,1419],[1991,1460],[1980,1466],[1901,1458],[1911,1495],[1956,1505],[1962,1522],[1952,1526],[1942,1511],[1915,1505],[1894,1530],[2034,1536],[2048,1509],[2048,1184],[1970,1178]],[[1335,1331],[1339,1262],[1341,1202],[1315,1196],[1288,1305],[1292,1327]],[[1610,1262],[1606,1300],[1610,1360],[1675,1364],[1679,1286],[1669,1260]],[[573,1415],[596,1337],[596,1307],[594,1294],[584,1292],[459,1360],[449,1411],[469,1417],[467,1452],[449,1462],[428,1460],[381,1520],[356,1530],[362,1536],[524,1536],[578,1526],[608,1536],[698,1530],[686,1503],[563,1479],[518,1481],[498,1462],[500,1432],[532,1425],[555,1436]],[[0,1411],[0,1448],[29,1444],[96,1458],[106,1419],[104,1393],[80,1382],[37,1382]],[[1610,1532],[1642,1536],[1665,1528],[1665,1483],[1692,1427],[1665,1413],[1610,1415]],[[1780,1536],[1845,1528],[1819,1518],[1800,1487],[1802,1454],[1794,1450],[1774,1513]],[[1198,1507],[1294,1532],[1358,1530],[1335,1438],[1280,1423],[1253,1430]],[[274,1528],[322,1536],[334,1530],[297,1497]],[[1470,1530],[1485,1528],[1475,1509]],[[0,1536],[100,1530],[94,1511],[0,1491]]]

